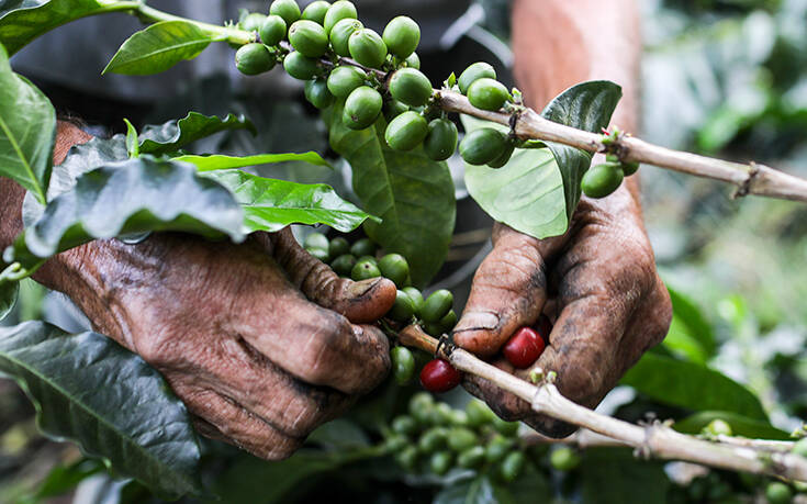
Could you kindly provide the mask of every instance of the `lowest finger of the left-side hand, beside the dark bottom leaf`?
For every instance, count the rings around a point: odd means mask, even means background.
[[[192,385],[173,387],[173,389],[191,414],[215,428],[215,430],[210,428],[201,430],[203,435],[213,434],[214,438],[267,460],[288,458],[303,443],[303,439],[283,435],[274,427],[250,415],[233,400],[211,390]]]

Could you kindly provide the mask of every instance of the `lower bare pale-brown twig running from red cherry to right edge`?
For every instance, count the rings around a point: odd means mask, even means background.
[[[417,325],[399,333],[403,345],[434,354],[437,340]],[[733,471],[753,472],[807,481],[807,459],[799,456],[744,446],[737,438],[705,440],[676,433],[661,423],[638,426],[596,413],[565,399],[548,380],[537,387],[495,368],[461,348],[441,351],[440,357],[460,371],[484,378],[530,403],[533,411],[624,443],[646,457],[686,460]],[[750,445],[750,444],[749,444]]]

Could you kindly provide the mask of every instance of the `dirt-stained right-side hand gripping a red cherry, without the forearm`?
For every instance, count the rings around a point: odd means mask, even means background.
[[[525,380],[536,367],[556,371],[563,395],[593,407],[666,334],[670,298],[625,184],[603,200],[583,198],[563,236],[538,240],[497,224],[493,243],[455,340],[495,366]],[[554,323],[549,345],[533,368],[515,370],[498,351],[541,313]],[[468,377],[464,385],[505,419],[523,419],[554,437],[573,430],[486,380]]]

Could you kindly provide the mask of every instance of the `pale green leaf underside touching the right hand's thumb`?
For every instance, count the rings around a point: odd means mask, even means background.
[[[466,133],[506,126],[462,115]],[[482,210],[516,231],[545,238],[567,231],[563,180],[547,148],[517,149],[502,168],[466,164],[466,187]]]

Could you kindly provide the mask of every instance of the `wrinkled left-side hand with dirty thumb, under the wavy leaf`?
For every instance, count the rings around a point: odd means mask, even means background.
[[[60,123],[55,161],[87,139]],[[16,209],[3,220],[7,245],[22,191],[2,180],[0,197]],[[202,434],[262,458],[290,456],[389,372],[386,337],[361,324],[392,306],[395,285],[339,279],[288,229],[243,245],[179,234],[99,240],[57,256],[36,279],[154,366]]]

